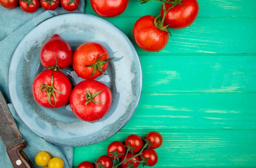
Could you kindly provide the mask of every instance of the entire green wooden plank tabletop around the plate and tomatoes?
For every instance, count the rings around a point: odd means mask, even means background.
[[[162,51],[145,52],[132,37],[143,15],[157,15],[159,2],[104,18],[131,39],[141,61],[143,90],[134,115],[108,140],[74,148],[73,165],[106,155],[110,142],[132,133],[159,131],[155,167],[256,167],[256,0],[198,0],[189,28],[170,30]],[[87,0],[85,13],[97,15]],[[140,166],[142,167],[142,166]]]

